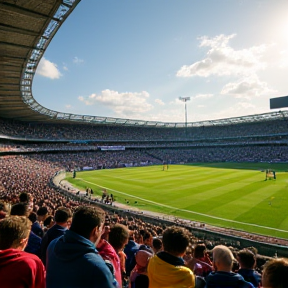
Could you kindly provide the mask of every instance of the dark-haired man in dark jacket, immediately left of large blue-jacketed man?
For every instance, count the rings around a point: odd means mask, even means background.
[[[50,242],[62,235],[70,227],[72,212],[69,208],[59,207],[55,213],[55,225],[53,225],[44,235],[41,243],[40,258],[46,266],[46,250]]]

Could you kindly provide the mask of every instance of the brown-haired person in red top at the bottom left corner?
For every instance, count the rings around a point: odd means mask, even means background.
[[[1,288],[45,288],[45,268],[41,260],[24,252],[31,222],[25,216],[9,216],[0,221]]]

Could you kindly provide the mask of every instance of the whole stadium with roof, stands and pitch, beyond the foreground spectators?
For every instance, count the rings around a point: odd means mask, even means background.
[[[39,61],[79,2],[0,1],[0,200],[26,192],[52,216],[95,205],[130,230],[176,225],[211,249],[256,247],[259,263],[288,257],[288,111],[173,123],[34,99]]]

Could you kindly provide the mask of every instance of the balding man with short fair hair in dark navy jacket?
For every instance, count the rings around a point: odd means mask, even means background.
[[[214,272],[207,276],[206,288],[254,288],[240,274],[231,271],[233,260],[233,254],[228,247],[218,245],[213,248]]]

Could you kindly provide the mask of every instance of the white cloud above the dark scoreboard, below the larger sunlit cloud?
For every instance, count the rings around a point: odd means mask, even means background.
[[[261,82],[256,74],[226,84],[221,91],[222,95],[232,95],[236,98],[251,99],[277,92],[270,89],[266,82]]]

